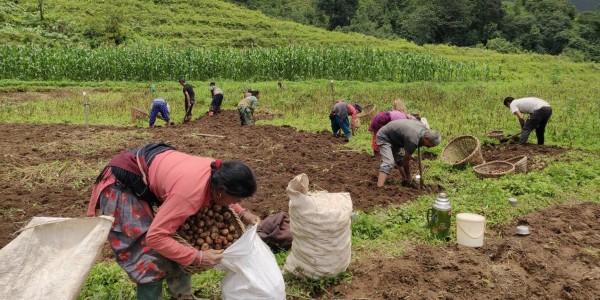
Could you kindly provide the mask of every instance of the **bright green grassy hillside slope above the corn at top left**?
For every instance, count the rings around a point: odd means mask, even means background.
[[[172,47],[324,45],[418,50],[405,41],[328,32],[279,21],[215,0],[44,1],[0,3],[0,41],[6,43],[137,44]]]

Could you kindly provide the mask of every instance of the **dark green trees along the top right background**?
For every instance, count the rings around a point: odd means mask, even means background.
[[[280,19],[382,39],[600,62],[600,9],[580,13],[567,0],[228,1]]]

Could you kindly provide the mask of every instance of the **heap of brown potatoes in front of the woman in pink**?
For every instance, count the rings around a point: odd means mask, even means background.
[[[227,249],[242,235],[228,207],[212,204],[185,220],[177,233],[198,250]]]

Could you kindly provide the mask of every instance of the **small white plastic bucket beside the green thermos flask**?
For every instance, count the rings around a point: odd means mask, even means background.
[[[485,217],[478,214],[460,213],[456,215],[456,241],[467,247],[483,246]]]

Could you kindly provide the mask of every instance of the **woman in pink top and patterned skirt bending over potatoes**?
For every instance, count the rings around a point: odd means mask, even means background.
[[[148,144],[114,156],[96,178],[87,216],[115,218],[108,240],[117,263],[137,284],[137,299],[162,299],[164,279],[171,299],[197,299],[181,266],[210,269],[223,250],[196,250],[173,238],[185,220],[214,202],[229,205],[243,223],[260,218],[238,202],[256,192],[250,167]],[[154,214],[151,207],[158,206]]]

